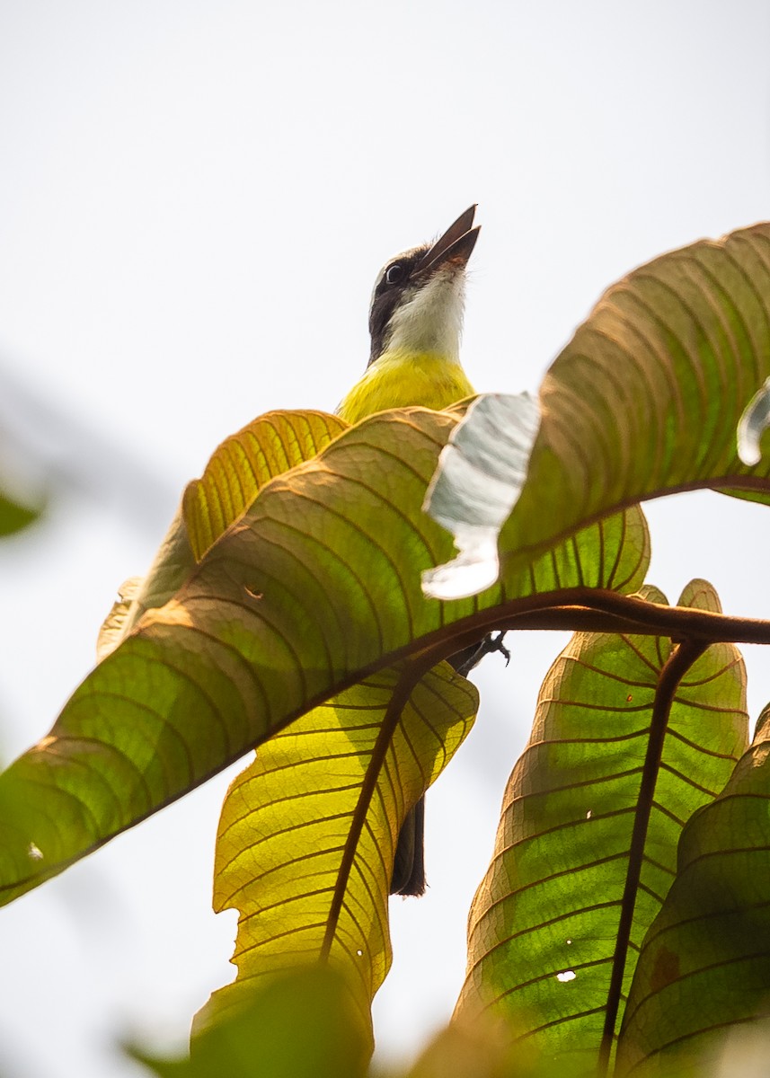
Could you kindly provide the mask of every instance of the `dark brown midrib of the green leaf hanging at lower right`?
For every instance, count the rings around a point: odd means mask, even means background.
[[[623,975],[625,972],[625,962],[633,925],[634,906],[638,893],[640,879],[642,875],[642,863],[644,860],[644,848],[647,841],[647,828],[652,810],[652,799],[655,787],[660,771],[660,761],[663,754],[663,743],[669,727],[669,716],[671,705],[679,681],[690,668],[692,663],[703,654],[707,645],[702,640],[685,640],[677,645],[672,651],[669,660],[660,672],[658,686],[652,705],[652,719],[650,722],[649,741],[647,743],[647,754],[645,756],[644,769],[642,771],[642,782],[640,784],[636,813],[634,816],[634,827],[631,833],[631,846],[629,848],[629,865],[625,872],[625,886],[620,906],[620,921],[618,924],[618,936],[613,955],[613,972],[609,980],[609,991],[607,993],[607,1009],[604,1018],[604,1032],[602,1034],[602,1045],[599,1052],[597,1075],[607,1074],[609,1056],[615,1041],[615,1025],[618,1020],[618,1009],[623,986]]]

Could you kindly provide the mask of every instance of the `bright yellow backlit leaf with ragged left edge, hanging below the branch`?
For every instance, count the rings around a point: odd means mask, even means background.
[[[329,962],[367,1025],[390,965],[388,882],[409,808],[470,730],[478,694],[448,663],[383,671],[260,747],[222,808],[215,909],[239,911],[237,981],[208,1014],[266,975]],[[411,691],[410,691],[411,689]]]

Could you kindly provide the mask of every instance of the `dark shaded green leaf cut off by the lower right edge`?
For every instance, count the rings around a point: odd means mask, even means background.
[[[728,1025],[767,1017],[768,998],[770,706],[725,789],[682,834],[676,880],[642,946],[618,1075],[689,1074],[721,1050]]]

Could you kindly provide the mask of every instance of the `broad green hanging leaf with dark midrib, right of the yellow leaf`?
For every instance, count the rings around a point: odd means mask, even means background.
[[[679,605],[718,610],[703,581]],[[614,967],[624,998],[674,877],[682,827],[721,790],[746,743],[743,663],[732,645],[714,645],[676,691],[629,894],[652,704],[671,650],[660,637],[573,637],[544,682],[471,908],[458,1013],[518,1015],[547,1058],[581,1056],[586,1074],[595,1072]],[[625,954],[616,952],[623,907],[633,910]]]

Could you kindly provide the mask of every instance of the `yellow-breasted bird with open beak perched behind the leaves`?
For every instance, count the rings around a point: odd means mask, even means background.
[[[389,259],[377,274],[369,306],[369,363],[336,409],[347,423],[393,407],[441,410],[473,396],[459,360],[459,342],[466,267],[480,231],[473,225],[476,209],[473,205],[460,213],[434,243]],[[483,641],[453,655],[450,663],[465,675],[480,658],[480,648]],[[424,828],[421,798],[399,832],[391,895],[425,893]]]

